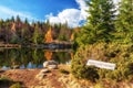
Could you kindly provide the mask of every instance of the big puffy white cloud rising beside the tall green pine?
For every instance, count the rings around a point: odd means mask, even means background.
[[[88,6],[85,4],[85,0],[75,0],[79,4],[79,9],[65,9],[58,13],[58,15],[53,15],[52,13],[47,15],[47,19],[50,23],[65,23],[68,22],[69,26],[75,28],[80,25],[82,20],[85,20],[88,13]]]

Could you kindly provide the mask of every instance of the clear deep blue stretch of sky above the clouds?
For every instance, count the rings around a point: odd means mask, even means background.
[[[0,6],[13,11],[28,12],[38,19],[44,19],[44,15],[51,12],[55,15],[63,9],[79,7],[74,0],[0,0]]]

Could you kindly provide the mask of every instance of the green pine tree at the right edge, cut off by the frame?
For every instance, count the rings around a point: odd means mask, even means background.
[[[133,42],[133,0],[122,0],[120,2],[115,28],[117,42]]]

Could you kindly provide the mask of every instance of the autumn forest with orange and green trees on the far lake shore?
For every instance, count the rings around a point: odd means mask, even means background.
[[[50,32],[49,32],[50,31]],[[0,20],[0,43],[3,44],[43,44],[52,41],[70,41],[72,28],[50,22],[21,21],[18,16]],[[51,41],[52,40],[52,41]]]

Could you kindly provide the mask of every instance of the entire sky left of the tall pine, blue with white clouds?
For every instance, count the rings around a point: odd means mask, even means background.
[[[49,20],[79,26],[88,16],[85,1],[89,0],[0,0],[0,19],[20,15],[30,22]]]

